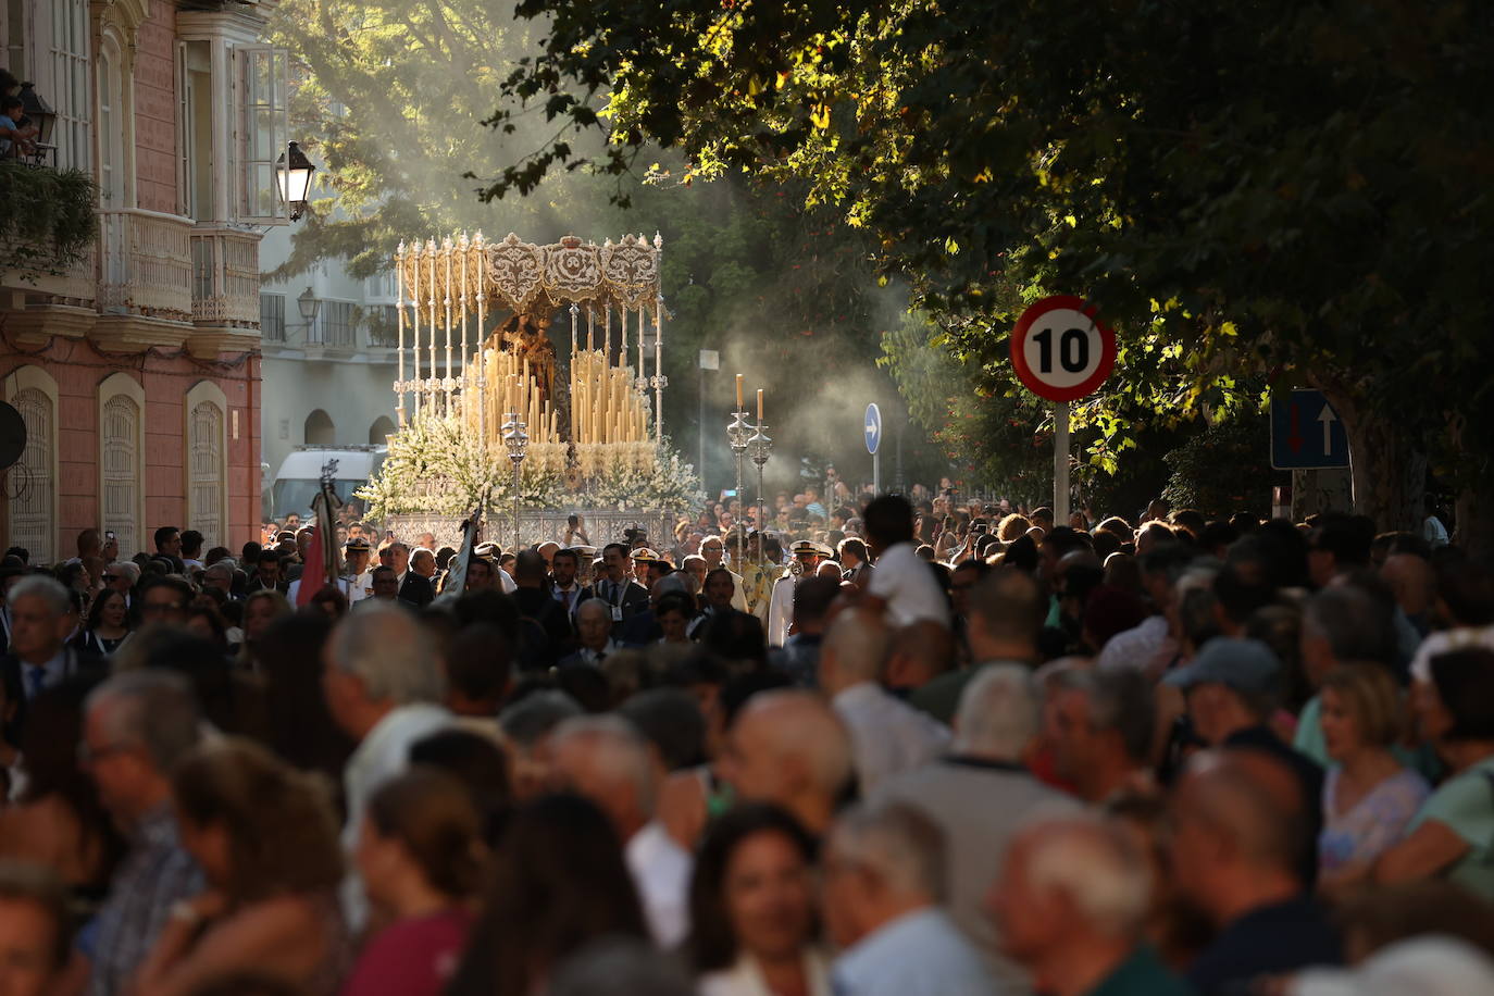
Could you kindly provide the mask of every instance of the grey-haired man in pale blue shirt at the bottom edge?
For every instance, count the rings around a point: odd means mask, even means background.
[[[825,921],[841,948],[831,987],[856,996],[989,996],[970,941],[940,908],[944,841],[907,805],[856,806],[825,859]]]

